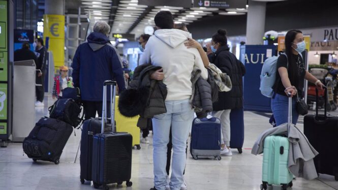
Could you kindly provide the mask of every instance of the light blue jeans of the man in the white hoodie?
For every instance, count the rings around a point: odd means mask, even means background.
[[[189,99],[166,101],[167,113],[155,115],[152,119],[153,129],[153,173],[156,189],[165,190],[167,184],[167,144],[170,126],[172,133],[172,172],[170,189],[179,190],[183,183],[183,171],[186,166],[186,148],[190,126],[194,117]]]

